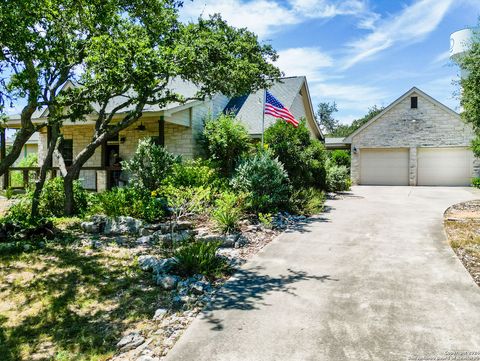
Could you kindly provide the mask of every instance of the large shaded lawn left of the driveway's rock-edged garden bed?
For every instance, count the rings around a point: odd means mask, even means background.
[[[0,255],[2,361],[106,360],[167,302],[134,248],[68,238]]]

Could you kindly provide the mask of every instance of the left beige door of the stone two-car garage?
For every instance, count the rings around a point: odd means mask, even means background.
[[[362,149],[360,184],[408,185],[408,149]]]

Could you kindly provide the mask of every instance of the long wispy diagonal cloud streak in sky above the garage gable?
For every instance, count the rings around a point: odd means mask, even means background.
[[[349,54],[343,64],[348,69],[396,44],[417,42],[435,30],[453,0],[419,0],[398,15],[384,19],[362,39],[349,44]]]

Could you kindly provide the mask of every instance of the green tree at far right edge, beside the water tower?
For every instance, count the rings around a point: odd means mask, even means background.
[[[476,139],[472,149],[476,157],[480,157],[480,34],[475,32],[469,51],[456,61],[463,70],[460,79],[461,117],[473,126]]]

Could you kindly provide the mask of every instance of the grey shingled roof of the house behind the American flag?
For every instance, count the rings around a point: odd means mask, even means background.
[[[317,131],[319,137],[323,137],[318,124],[314,120],[313,107],[311,105],[310,94],[308,91],[307,81],[304,76],[295,76],[281,78],[275,82],[268,90],[277,98],[285,107],[292,111],[292,105],[298,93],[305,85],[307,94],[304,94],[308,100],[308,106],[311,111],[313,123],[311,126]],[[233,113],[240,119],[252,135],[262,134],[262,117],[263,117],[263,89],[254,93],[232,98],[226,105],[224,112]],[[293,112],[293,111],[292,111]],[[294,114],[295,115],[295,114]],[[276,121],[271,115],[265,115],[265,128]]]

